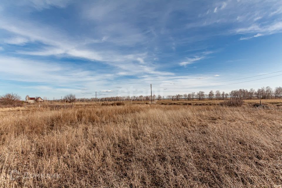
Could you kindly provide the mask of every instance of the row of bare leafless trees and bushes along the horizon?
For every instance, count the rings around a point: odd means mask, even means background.
[[[26,100],[28,100],[28,95],[26,96]],[[282,98],[282,87],[276,87],[274,90],[267,86],[259,88],[258,90],[254,89],[239,89],[239,90],[232,90],[230,93],[225,93],[224,91],[221,92],[220,90],[216,90],[215,92],[211,90],[209,93],[205,93],[204,91],[199,91],[197,93],[192,92],[188,94],[177,94],[177,95],[167,95],[166,99],[172,100],[180,100],[180,99],[225,99],[225,98],[240,98],[240,99],[271,99],[271,98]],[[43,98],[47,100],[46,97]],[[165,99],[164,96],[161,95],[152,95],[152,100],[161,100]],[[75,101],[78,102],[95,102],[95,101],[125,101],[125,100],[132,100],[132,101],[149,101],[151,100],[151,95],[147,96],[115,96],[115,97],[102,97],[102,98],[75,98],[73,94],[66,95],[63,98],[64,102],[73,103]],[[7,93],[0,96],[0,105],[15,105],[20,104],[21,97],[16,93]],[[61,101],[61,100],[56,100]]]

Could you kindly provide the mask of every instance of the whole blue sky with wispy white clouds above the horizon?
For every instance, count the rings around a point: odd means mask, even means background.
[[[282,70],[281,32],[276,0],[2,0],[0,94],[149,95],[151,83],[162,96],[275,88],[282,76],[204,83]],[[170,89],[191,84],[213,87]]]

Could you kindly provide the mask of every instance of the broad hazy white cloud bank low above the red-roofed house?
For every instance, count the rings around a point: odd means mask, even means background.
[[[9,66],[2,66],[0,69],[0,79],[45,82],[60,85],[94,81],[97,77],[90,71],[85,71],[77,67],[63,66],[56,62],[42,62],[31,59],[0,56],[0,65],[7,63],[9,63]],[[107,75],[105,75],[105,78],[106,77]]]

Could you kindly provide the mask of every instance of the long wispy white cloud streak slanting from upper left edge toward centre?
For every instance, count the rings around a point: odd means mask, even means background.
[[[63,31],[56,30],[52,27],[44,25],[33,25],[29,22],[17,22],[15,20],[0,19],[0,28],[5,29],[11,33],[21,35],[24,38],[29,38],[31,41],[39,41],[46,45],[39,51],[17,51],[21,54],[33,56],[72,56],[76,58],[85,58],[91,61],[99,61],[101,63],[115,66],[123,69],[122,72],[127,75],[136,75],[140,73],[148,74],[172,74],[167,72],[155,71],[155,67],[151,64],[146,64],[144,58],[147,53],[142,54],[126,54],[127,51],[117,52],[116,50],[97,50],[97,48],[88,48],[85,46],[85,41],[81,42],[72,38]],[[103,37],[102,41],[108,40]],[[99,49],[99,48],[98,48]],[[134,61],[143,63],[142,65],[134,63]],[[149,62],[148,62],[149,63]]]

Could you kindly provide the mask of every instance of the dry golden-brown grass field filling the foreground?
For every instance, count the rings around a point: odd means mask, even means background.
[[[214,101],[2,108],[0,187],[281,187],[282,101]]]

